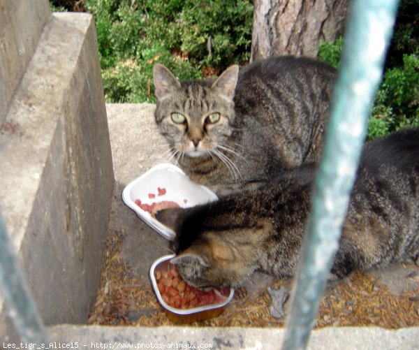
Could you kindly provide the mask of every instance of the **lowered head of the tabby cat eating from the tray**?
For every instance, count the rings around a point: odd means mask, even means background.
[[[202,290],[239,286],[256,270],[249,264],[248,250],[254,251],[254,247],[247,239],[242,240],[238,231],[209,228],[200,215],[181,208],[161,210],[156,219],[176,232],[176,256],[171,262],[189,285]]]

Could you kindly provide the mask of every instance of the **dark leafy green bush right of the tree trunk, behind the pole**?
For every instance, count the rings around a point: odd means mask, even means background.
[[[369,139],[407,126],[419,126],[418,21],[418,1],[400,1],[383,80],[369,119]],[[321,43],[318,48],[319,59],[338,67],[342,46],[342,39],[335,43]]]

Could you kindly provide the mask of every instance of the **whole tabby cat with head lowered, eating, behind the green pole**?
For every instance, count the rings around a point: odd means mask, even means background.
[[[260,189],[156,217],[177,233],[172,259],[200,289],[239,286],[261,270],[291,277],[310,210],[315,166],[288,170]],[[330,282],[419,256],[419,129],[365,145]]]

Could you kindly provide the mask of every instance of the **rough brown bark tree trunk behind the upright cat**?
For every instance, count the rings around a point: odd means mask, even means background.
[[[255,0],[251,61],[316,57],[321,41],[343,35],[349,0]]]

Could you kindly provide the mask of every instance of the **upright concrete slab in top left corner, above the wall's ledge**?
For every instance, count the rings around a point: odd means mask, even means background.
[[[1,0],[0,125],[50,16],[47,0]]]

